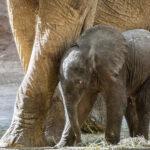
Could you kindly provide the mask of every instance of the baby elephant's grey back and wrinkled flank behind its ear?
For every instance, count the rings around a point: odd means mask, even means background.
[[[150,77],[150,32],[144,29],[128,30],[122,33],[126,43],[129,79],[132,87]],[[130,85],[131,86],[131,85]]]

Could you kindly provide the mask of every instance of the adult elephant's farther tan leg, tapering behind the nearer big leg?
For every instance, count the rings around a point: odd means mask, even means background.
[[[7,0],[10,24],[26,72],[35,38],[38,0]]]

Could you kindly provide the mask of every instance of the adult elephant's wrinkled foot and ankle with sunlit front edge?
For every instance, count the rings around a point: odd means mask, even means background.
[[[43,119],[33,114],[14,116],[11,126],[0,140],[0,147],[46,146]],[[35,115],[36,116],[36,115]]]

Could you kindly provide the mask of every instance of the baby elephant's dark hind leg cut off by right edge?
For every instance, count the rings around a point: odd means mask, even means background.
[[[150,121],[150,79],[143,84],[137,93],[136,105],[139,119],[137,134],[148,139]]]

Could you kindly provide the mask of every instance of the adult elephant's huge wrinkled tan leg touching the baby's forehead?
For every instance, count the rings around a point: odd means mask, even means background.
[[[79,36],[96,0],[39,0],[35,43],[12,124],[0,146],[45,146],[45,118],[63,52]],[[93,22],[91,22],[92,24]]]

